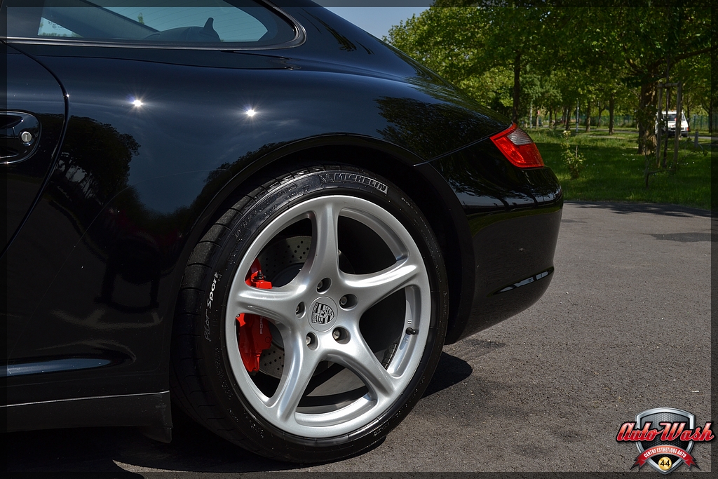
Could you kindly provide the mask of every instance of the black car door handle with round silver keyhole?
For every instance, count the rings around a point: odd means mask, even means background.
[[[29,158],[37,148],[40,122],[22,111],[0,112],[0,162],[16,163]]]

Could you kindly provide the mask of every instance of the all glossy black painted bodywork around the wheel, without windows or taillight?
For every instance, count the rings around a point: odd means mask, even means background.
[[[446,256],[448,342],[544,292],[551,274],[495,294],[551,268],[561,215],[553,173],[517,169],[487,140],[508,120],[324,9],[284,10],[306,30],[302,45],[9,49],[20,66],[6,110],[36,115],[46,146],[4,166],[8,231],[24,220],[3,257],[8,404],[164,394],[192,247],[253,175],[299,162],[373,169],[419,204]],[[162,414],[143,421],[168,427]]]

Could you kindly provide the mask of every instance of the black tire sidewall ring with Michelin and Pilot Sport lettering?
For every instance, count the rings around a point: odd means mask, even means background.
[[[369,200],[391,213],[409,231],[429,272],[432,312],[429,337],[421,363],[409,386],[397,401],[369,424],[350,434],[328,438],[306,438],[282,432],[253,409],[233,376],[225,340],[226,304],[239,262],[262,228],[274,218],[314,197],[350,195]],[[230,233],[220,245],[215,268],[205,277],[202,303],[201,355],[207,379],[216,391],[221,409],[241,433],[264,450],[292,460],[317,462],[355,455],[380,441],[411,411],[431,381],[444,343],[448,316],[447,279],[442,254],[428,223],[401,190],[378,175],[352,167],[325,167],[294,173],[264,192],[246,197],[235,209],[238,215],[229,225]],[[208,362],[210,362],[208,361]],[[406,397],[406,401],[402,398]]]

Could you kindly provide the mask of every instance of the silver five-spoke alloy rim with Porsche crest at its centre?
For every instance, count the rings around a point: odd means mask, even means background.
[[[370,228],[396,262],[370,274],[342,271],[337,230],[340,216]],[[299,274],[288,284],[272,289],[246,284],[252,262],[272,238],[307,219],[312,223],[312,246]],[[330,286],[325,289],[327,279]],[[385,368],[363,337],[360,318],[370,307],[402,290],[406,297],[404,332]],[[355,304],[342,307],[342,298],[349,294],[355,297]],[[345,195],[306,200],[260,231],[238,265],[225,314],[230,368],[252,408],[281,431],[317,438],[348,434],[401,399],[426,347],[431,307],[429,277],[419,247],[391,213],[368,200]],[[281,335],[284,371],[271,396],[258,388],[243,366],[236,321],[243,312],[266,317]],[[366,394],[325,409],[300,408],[304,391],[322,361],[354,373],[366,387]]]

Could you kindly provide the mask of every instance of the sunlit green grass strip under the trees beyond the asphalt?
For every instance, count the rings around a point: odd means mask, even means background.
[[[561,131],[541,129],[528,131],[536,141],[546,166],[559,177],[564,199],[585,201],[627,201],[635,203],[670,203],[710,209],[711,166],[709,141],[700,141],[705,153],[692,148],[693,139],[681,139],[679,167],[675,174],[651,175],[645,187],[645,159],[636,154],[637,133],[608,135],[606,129],[587,134],[572,131],[569,144],[579,147],[586,158],[580,177],[572,179],[564,164]],[[672,141],[672,140],[671,140]],[[672,147],[672,143],[669,147]],[[668,158],[672,159],[669,148]],[[651,167],[655,166],[655,156]]]

